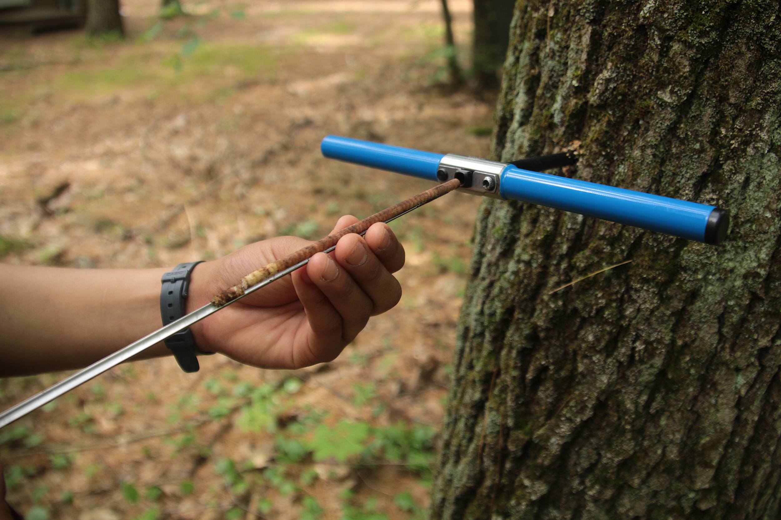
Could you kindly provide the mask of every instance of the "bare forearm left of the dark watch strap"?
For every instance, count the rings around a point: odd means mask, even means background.
[[[155,331],[165,272],[0,264],[0,376],[87,366]]]

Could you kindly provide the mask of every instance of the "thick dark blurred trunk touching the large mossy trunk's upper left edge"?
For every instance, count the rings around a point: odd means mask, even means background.
[[[472,67],[480,89],[499,87],[497,70],[505,62],[515,0],[474,0]]]

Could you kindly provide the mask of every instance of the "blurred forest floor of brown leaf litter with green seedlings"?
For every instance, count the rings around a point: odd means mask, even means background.
[[[469,1],[451,0],[466,55]],[[486,157],[493,101],[447,93],[435,0],[123,2],[127,40],[0,36],[0,255],[173,267],[319,238],[430,182],[324,159],[328,134]],[[423,518],[480,200],[394,223],[401,303],[333,363],[120,366],[0,431],[28,520]],[[0,409],[65,373],[0,380]]]

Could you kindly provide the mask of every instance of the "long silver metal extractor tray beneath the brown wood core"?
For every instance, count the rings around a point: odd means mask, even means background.
[[[384,222],[387,224],[390,221],[394,221],[395,219],[401,217],[401,215],[408,214],[410,211],[415,210],[421,206],[423,206],[423,204],[418,204],[417,206],[406,210],[404,213],[398,214],[392,218],[388,218]],[[365,235],[366,232],[362,232],[360,234]],[[333,249],[336,249],[336,246],[326,249],[325,251],[323,251],[323,253],[330,253],[331,251],[333,251]],[[73,388],[78,387],[86,383],[88,380],[91,380],[94,377],[99,376],[100,374],[104,373],[106,370],[109,370],[110,368],[119,365],[119,363],[122,363],[123,361],[127,361],[127,359],[130,359],[131,357],[135,356],[139,352],[143,352],[147,348],[159,343],[160,341],[163,341],[166,338],[169,338],[173,334],[176,334],[179,331],[183,331],[187,327],[191,327],[193,324],[198,323],[198,321],[203,320],[205,317],[209,316],[210,314],[216,313],[218,310],[224,309],[226,306],[229,306],[232,303],[239,301],[241,298],[244,298],[244,296],[257,291],[259,288],[269,285],[273,281],[279,280],[280,278],[286,276],[287,274],[291,274],[299,267],[304,267],[308,263],[309,263],[309,259],[301,260],[301,262],[299,262],[298,264],[288,267],[284,271],[280,271],[274,274],[272,277],[266,278],[266,280],[263,280],[255,285],[252,285],[250,288],[244,291],[244,295],[230,302],[227,302],[223,306],[216,307],[213,306],[211,303],[207,303],[205,306],[202,306],[200,309],[194,310],[193,312],[187,314],[186,316],[180,317],[178,320],[173,321],[172,323],[159,328],[158,330],[152,332],[152,334],[148,334],[144,336],[144,338],[141,338],[138,341],[134,341],[133,343],[130,343],[130,345],[127,345],[127,347],[120,348],[118,351],[109,354],[109,356],[105,356],[105,358],[101,359],[100,361],[96,361],[95,363],[92,363],[90,366],[87,366],[87,368],[85,368],[84,370],[80,370],[79,372],[74,373],[72,376],[66,377],[59,383],[53,384],[51,387],[48,387],[46,390],[41,391],[38,394],[35,394],[33,397],[20,402],[18,405],[12,406],[11,408],[5,410],[5,412],[0,413],[0,428],[2,428],[3,426],[8,426],[10,423],[13,423],[16,419],[21,419],[23,416],[26,416],[28,413],[32,412],[33,410],[41,408],[41,406],[45,405],[50,401],[54,401],[56,398],[59,398],[60,395],[65,394],[67,391],[73,390]]]

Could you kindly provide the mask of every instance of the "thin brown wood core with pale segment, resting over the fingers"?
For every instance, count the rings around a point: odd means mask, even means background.
[[[241,284],[234,285],[233,287],[220,292],[212,299],[212,304],[214,306],[221,307],[227,302],[233,301],[234,299],[244,295],[244,290],[250,288],[252,285],[258,284],[261,281],[266,280],[266,278],[270,278],[274,274],[280,271],[284,271],[288,267],[293,267],[295,264],[312,257],[312,255],[315,253],[320,253],[332,246],[336,246],[337,242],[339,242],[339,239],[341,239],[344,235],[365,232],[376,222],[387,221],[391,218],[397,217],[405,211],[411,210],[413,207],[428,203],[434,199],[439,198],[440,196],[443,196],[446,193],[450,193],[454,189],[458,188],[458,186],[461,186],[461,181],[458,179],[451,179],[448,182],[444,182],[444,184],[434,186],[431,189],[426,189],[426,191],[423,193],[419,193],[418,195],[415,195],[412,198],[405,200],[404,202],[400,202],[395,206],[388,207],[380,211],[380,213],[373,214],[369,218],[364,218],[362,221],[356,222],[347,228],[340,229],[339,231],[333,233],[333,235],[328,235],[326,238],[314,242],[311,246],[298,249],[298,251],[295,253],[285,256],[281,260],[276,260],[276,262],[272,262],[271,264],[266,265],[266,267],[261,267],[257,271],[253,271],[244,278],[241,278]]]

